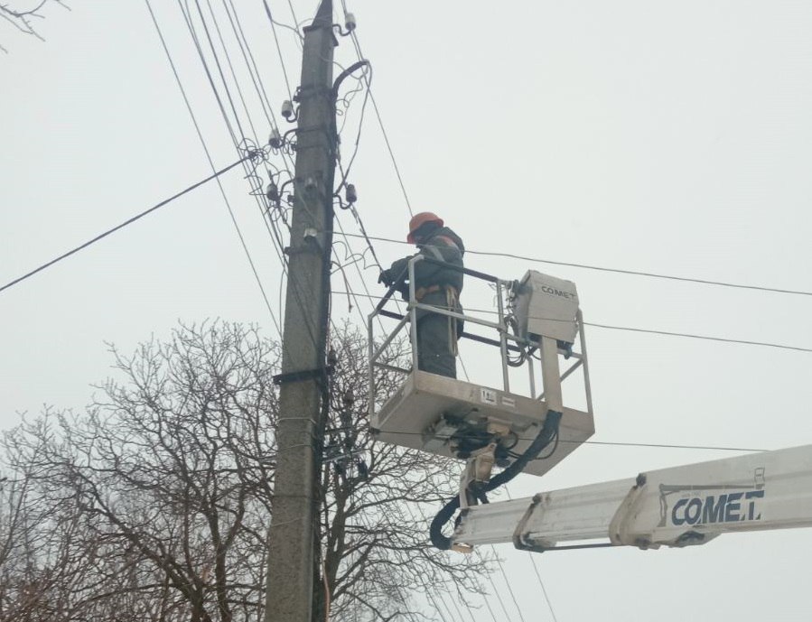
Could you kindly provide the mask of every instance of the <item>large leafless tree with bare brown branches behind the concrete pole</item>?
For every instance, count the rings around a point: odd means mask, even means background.
[[[464,597],[490,565],[431,548],[424,511],[458,471],[369,435],[364,339],[345,328],[332,343],[318,616],[416,620],[415,592]],[[123,380],[86,413],[47,410],[5,434],[0,617],[260,619],[278,346],[215,321],[111,352]]]

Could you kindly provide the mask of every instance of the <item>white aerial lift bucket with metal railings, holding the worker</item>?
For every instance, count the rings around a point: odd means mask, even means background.
[[[419,255],[409,266],[414,275],[415,261],[433,261]],[[541,431],[548,413],[561,414],[555,450],[530,460],[524,471],[544,475],[594,433],[589,367],[583,335],[583,319],[578,308],[574,283],[535,271],[520,282],[503,281],[488,274],[463,270],[469,277],[489,283],[496,289],[497,320],[483,319],[471,312],[457,314],[421,304],[415,300],[414,278],[406,315],[385,308],[392,290],[369,315],[369,421],[380,441],[427,451],[471,462],[484,448],[491,448],[490,460],[508,467],[522,455]],[[467,289],[471,289],[471,278]],[[415,325],[417,310],[437,312],[465,321],[468,330],[490,330],[492,337],[475,332],[462,333],[462,339],[498,348],[502,368],[501,388],[477,385],[446,376],[437,376],[417,368],[417,340],[410,331],[412,365],[393,367],[381,362],[401,330]],[[373,322],[387,317],[398,320],[391,333],[376,344]],[[495,334],[494,334],[495,331]],[[575,348],[577,344],[578,348]],[[576,351],[580,350],[580,351]],[[519,353],[527,362],[527,395],[511,391],[510,371]],[[530,356],[535,355],[535,356]],[[543,392],[537,395],[534,361],[541,361]],[[562,373],[561,361],[568,367]],[[376,369],[385,367],[402,375],[402,384],[394,395],[378,403]],[[562,382],[581,369],[583,373],[582,409],[563,404]],[[514,383],[515,385],[515,383]],[[490,455],[490,454],[489,454]],[[479,465],[474,469],[479,469]],[[487,477],[471,474],[471,478]],[[464,504],[463,504],[464,506]]]

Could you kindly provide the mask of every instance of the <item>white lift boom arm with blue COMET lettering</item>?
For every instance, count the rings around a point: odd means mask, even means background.
[[[462,511],[454,548],[546,551],[703,544],[729,532],[812,526],[812,445],[640,473]]]

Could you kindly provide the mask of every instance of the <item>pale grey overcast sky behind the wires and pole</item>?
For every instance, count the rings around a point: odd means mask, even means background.
[[[812,292],[809,3],[347,2],[412,209],[440,213],[469,249]],[[0,23],[0,286],[211,172],[145,3],[68,4],[37,22],[45,42]],[[238,155],[181,11],[153,4],[215,166],[226,166]],[[261,2],[234,4],[278,117],[288,95],[273,32]],[[296,18],[306,23],[316,4],[293,0]],[[212,5],[228,36],[221,3]],[[287,2],[269,5],[294,23]],[[295,88],[296,37],[277,32]],[[349,39],[337,58],[357,59]],[[231,59],[256,126],[255,136],[243,117],[244,134],[263,142],[270,124],[236,46]],[[359,93],[350,104],[345,158],[362,101]],[[369,234],[403,239],[409,210],[371,105],[351,181]],[[260,210],[239,170],[223,187],[278,319],[284,280]],[[358,233],[348,213],[339,218]],[[358,238],[347,244],[364,248]],[[408,252],[375,246],[385,264]],[[597,324],[812,348],[808,293],[486,255],[468,255],[468,265],[506,279],[532,267],[573,280]],[[363,279],[378,293],[374,269],[347,274],[354,291],[364,293]],[[492,304],[466,287],[467,306]],[[345,290],[341,278],[333,289]],[[343,295],[333,309],[358,324],[369,312],[349,311]],[[215,317],[277,334],[210,183],[0,292],[0,426],[43,404],[81,410],[111,373],[105,342],[128,351],[178,320]],[[598,327],[588,342],[595,441],[812,443],[810,352]],[[487,384],[486,361],[463,362]],[[585,445],[510,492],[731,455]],[[495,595],[491,607],[507,620],[553,619],[528,554],[498,550],[505,575],[494,586],[507,614]],[[810,550],[812,530],[790,530],[685,550],[546,553],[535,563],[559,622],[807,620]],[[442,617],[471,619],[463,612]],[[487,608],[472,618],[492,619]]]

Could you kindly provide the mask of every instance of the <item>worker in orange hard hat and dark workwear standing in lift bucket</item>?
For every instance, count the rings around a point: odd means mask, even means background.
[[[406,241],[418,248],[416,255],[436,259],[450,265],[428,261],[415,263],[415,299],[441,309],[462,313],[462,239],[445,227],[443,218],[425,211],[415,214],[409,222]],[[384,270],[378,283],[387,287],[397,285],[404,299],[409,296],[408,262],[416,255],[398,259]],[[417,367],[431,374],[457,377],[457,339],[462,334],[462,320],[423,309],[417,310]]]

